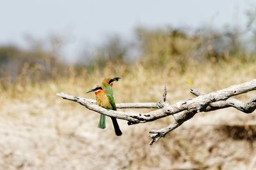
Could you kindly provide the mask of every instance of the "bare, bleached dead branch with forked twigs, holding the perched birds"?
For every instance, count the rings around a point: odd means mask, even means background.
[[[244,113],[252,113],[256,109],[256,96],[250,99],[248,102],[243,103],[237,99],[232,99],[230,97],[237,96],[252,90],[256,90],[256,79],[248,81],[246,83],[241,83],[239,85],[233,85],[226,89],[218,90],[216,92],[211,92],[209,94],[203,94],[198,90],[191,89],[191,93],[194,94],[195,98],[186,99],[175,104],[169,104],[166,102],[166,87],[164,87],[164,94],[161,101],[158,103],[119,103],[116,104],[116,108],[156,108],[157,110],[149,111],[147,113],[140,112],[124,112],[124,111],[113,111],[106,110],[97,106],[95,101],[92,99],[85,99],[83,97],[70,96],[65,93],[56,94],[63,99],[70,101],[75,101],[89,110],[96,111],[98,113],[127,120],[129,125],[139,124],[145,122],[151,122],[159,118],[167,117],[173,115],[174,122],[168,127],[158,130],[151,130],[150,136],[152,145],[155,141],[164,137],[168,132],[173,131],[181,124],[192,118],[196,113],[203,111],[219,110],[222,108],[233,107],[237,110],[243,111]]]

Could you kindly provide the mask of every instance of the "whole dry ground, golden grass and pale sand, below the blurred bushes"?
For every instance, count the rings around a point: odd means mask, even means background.
[[[0,169],[246,169],[256,154],[255,113],[233,109],[200,113],[149,146],[148,131],[165,127],[171,118],[132,126],[119,120],[123,135],[116,137],[109,120],[107,129],[97,129],[97,113],[55,96],[66,92],[94,98],[84,92],[106,76],[120,76],[122,80],[114,85],[116,103],[159,101],[165,84],[168,101],[175,103],[193,97],[191,87],[211,92],[252,80],[253,62],[191,63],[183,73],[172,63],[159,69],[145,68],[140,62],[109,63],[92,74],[69,69],[69,76],[56,75],[41,83],[31,83],[26,74],[20,74],[15,84],[4,81]]]

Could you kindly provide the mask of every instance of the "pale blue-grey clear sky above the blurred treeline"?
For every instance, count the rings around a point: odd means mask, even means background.
[[[67,39],[66,56],[86,44],[100,44],[111,34],[126,39],[135,27],[208,27],[246,25],[245,11],[253,0],[0,0],[0,45],[26,46],[24,37]]]

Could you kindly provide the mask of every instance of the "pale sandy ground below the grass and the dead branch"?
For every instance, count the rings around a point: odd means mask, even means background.
[[[255,112],[199,113],[166,138],[148,145],[148,131],[170,118],[128,126],[116,137],[108,118],[56,99],[3,102],[0,169],[248,169],[256,155]],[[142,111],[142,110],[141,110]],[[256,169],[256,165],[253,167]]]

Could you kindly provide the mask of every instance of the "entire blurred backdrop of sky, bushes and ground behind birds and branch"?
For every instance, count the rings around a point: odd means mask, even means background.
[[[94,99],[85,92],[116,76],[116,103],[250,81],[255,1],[1,1],[0,21],[0,169],[256,169],[255,111],[199,113],[149,146],[172,118],[118,120],[116,137],[109,119],[98,129],[99,114],[56,97]]]

